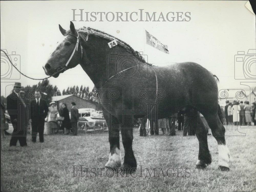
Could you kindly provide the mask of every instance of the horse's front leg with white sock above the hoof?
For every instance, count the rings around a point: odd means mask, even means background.
[[[108,123],[109,128],[109,161],[106,163],[105,167],[121,167],[121,153],[120,153],[120,144],[119,144],[119,126],[118,120],[111,116],[110,123]]]

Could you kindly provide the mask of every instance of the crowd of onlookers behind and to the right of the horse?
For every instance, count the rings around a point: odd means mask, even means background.
[[[249,105],[249,101],[236,101],[229,102],[227,101],[227,105],[225,107],[218,105],[218,116],[222,124],[226,125],[249,125],[256,126],[256,102],[253,102],[251,106]],[[202,121],[205,126],[209,130],[209,126],[203,116],[200,114]],[[142,121],[139,120],[140,127],[140,136],[145,136],[147,134],[158,134],[159,129],[162,130],[162,133],[167,135],[175,135],[175,129],[183,130],[183,136],[186,135],[195,135],[195,131],[191,125],[191,117],[189,114],[185,114],[180,111],[177,114],[172,115],[170,118],[158,119],[158,127],[156,130],[156,126],[154,124],[154,129],[151,131],[147,131],[148,126],[142,126]],[[153,130],[153,132],[152,132]],[[208,134],[211,131],[209,131]],[[160,132],[159,132],[160,133]]]

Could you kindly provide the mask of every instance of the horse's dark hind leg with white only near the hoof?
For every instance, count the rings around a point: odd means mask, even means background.
[[[211,164],[211,154],[209,152],[207,142],[208,129],[205,127],[197,110],[190,109],[186,116],[190,125],[193,127],[199,142],[199,152],[198,160],[196,162],[196,168],[202,169],[205,168],[207,165]]]

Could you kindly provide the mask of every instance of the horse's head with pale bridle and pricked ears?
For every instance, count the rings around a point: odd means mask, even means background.
[[[47,63],[43,66],[45,74],[54,77],[58,77],[60,73],[77,66],[83,55],[81,38],[74,24],[70,21],[70,31],[66,31],[60,25],[59,29],[64,36],[64,40],[57,44],[57,48],[51,53]]]

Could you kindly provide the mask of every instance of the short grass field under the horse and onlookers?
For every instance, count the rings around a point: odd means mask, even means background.
[[[205,170],[198,170],[195,168],[198,156],[198,140],[195,136],[183,137],[176,130],[176,136],[139,137],[138,129],[135,129],[133,150],[138,165],[149,170],[154,167],[157,170],[167,170],[170,167],[190,168],[190,177],[176,175],[171,178],[162,175],[158,178],[107,177],[104,171],[103,177],[79,177],[80,173],[76,173],[77,177],[72,177],[71,165],[104,167],[109,156],[107,132],[100,133],[97,137],[81,132],[78,136],[60,133],[45,135],[44,143],[32,143],[28,138],[28,146],[23,148],[19,143],[16,147],[9,147],[10,136],[6,136],[2,141],[1,151],[2,190],[256,191],[256,127],[242,131],[246,136],[226,137],[233,162],[229,172],[221,172],[218,170],[217,142],[212,135],[208,136],[212,163]],[[123,160],[124,149],[121,143],[120,145]],[[76,170],[78,169],[77,166]],[[143,172],[146,173],[146,170]]]

